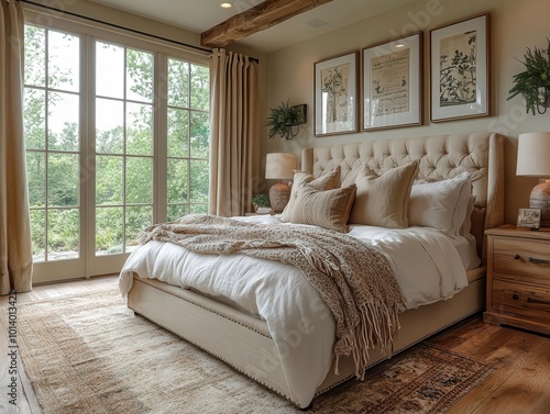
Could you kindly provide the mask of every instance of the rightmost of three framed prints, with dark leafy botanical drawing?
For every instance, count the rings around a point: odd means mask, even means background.
[[[430,31],[430,121],[490,115],[490,15]]]

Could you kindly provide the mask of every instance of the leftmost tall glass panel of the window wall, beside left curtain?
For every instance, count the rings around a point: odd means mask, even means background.
[[[79,37],[25,26],[23,113],[35,261],[79,255]]]

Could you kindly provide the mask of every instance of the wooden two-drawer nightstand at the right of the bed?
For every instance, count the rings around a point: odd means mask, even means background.
[[[487,323],[550,335],[550,228],[505,225],[487,235]]]

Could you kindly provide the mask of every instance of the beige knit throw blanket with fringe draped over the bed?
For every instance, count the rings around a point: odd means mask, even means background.
[[[169,242],[204,254],[243,254],[290,264],[318,290],[336,320],[336,373],[351,355],[363,378],[369,349],[388,349],[404,299],[386,257],[345,234],[305,225],[253,224],[189,214],[145,230],[140,243]]]

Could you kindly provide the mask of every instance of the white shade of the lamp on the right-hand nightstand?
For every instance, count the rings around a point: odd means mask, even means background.
[[[550,132],[519,135],[516,175],[550,177]]]

